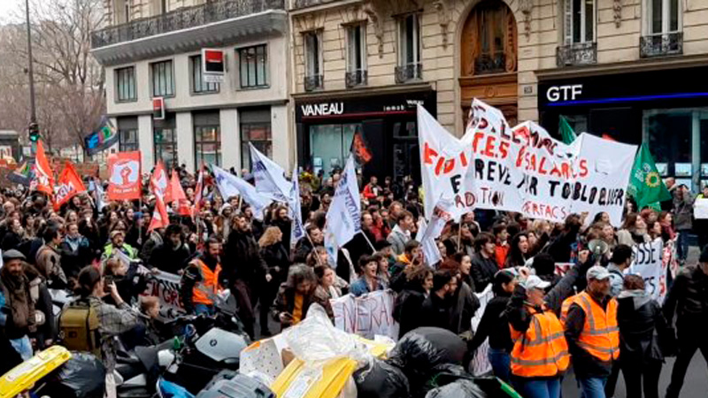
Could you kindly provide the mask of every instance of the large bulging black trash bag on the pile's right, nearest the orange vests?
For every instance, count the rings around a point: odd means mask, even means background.
[[[396,344],[389,364],[404,371],[413,396],[424,396],[427,381],[440,364],[462,364],[467,346],[457,334],[437,327],[419,327]]]

